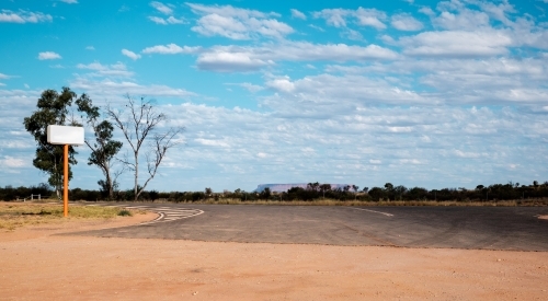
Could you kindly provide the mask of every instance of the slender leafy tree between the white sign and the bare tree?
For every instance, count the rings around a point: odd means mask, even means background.
[[[103,172],[105,178],[100,180],[98,184],[107,198],[113,199],[114,189],[118,186],[116,180],[123,170],[113,171],[112,169],[115,163],[115,155],[123,144],[112,139],[113,125],[109,120],[101,119],[99,107],[93,105],[88,95],[82,94],[76,101],[76,104],[78,105],[78,112],[85,115],[82,118],[85,118],[85,123],[91,127],[95,136],[94,141],[85,139],[85,144],[91,149],[88,165],[96,165]]]

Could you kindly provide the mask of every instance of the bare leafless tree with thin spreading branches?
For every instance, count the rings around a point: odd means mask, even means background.
[[[126,104],[125,107],[127,111],[117,111],[109,105],[106,107],[106,114],[113,119],[114,125],[122,130],[132,148],[133,160],[126,154],[124,159],[119,159],[119,161],[128,170],[134,172],[134,196],[135,200],[137,200],[147,187],[147,184],[155,177],[167,151],[178,144],[175,137],[181,134],[184,128],[171,127],[165,132],[156,132],[159,124],[165,121],[168,116],[161,112],[158,113],[151,102],[146,101],[144,97],[140,99],[139,103],[136,103],[130,95],[126,95],[126,97],[128,104]],[[145,153],[148,178],[142,186],[139,186],[139,152],[147,138],[151,138]]]

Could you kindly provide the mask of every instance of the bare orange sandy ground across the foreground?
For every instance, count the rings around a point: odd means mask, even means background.
[[[548,300],[547,252],[55,235],[155,217],[0,232],[0,300]]]

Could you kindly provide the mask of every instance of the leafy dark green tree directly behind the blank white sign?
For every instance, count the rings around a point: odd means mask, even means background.
[[[45,90],[36,104],[37,109],[23,120],[26,131],[34,137],[37,144],[33,165],[49,175],[47,182],[55,188],[59,199],[64,181],[64,146],[47,142],[47,126],[76,126],[77,124],[73,120],[69,121],[67,118],[69,115],[68,108],[76,97],[76,93],[66,86],[62,88],[60,93],[55,90]],[[69,146],[69,181],[72,178],[70,166],[78,163],[75,159],[76,153],[75,148]]]

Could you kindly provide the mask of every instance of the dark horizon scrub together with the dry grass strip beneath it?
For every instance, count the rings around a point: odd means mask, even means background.
[[[42,194],[42,198],[54,195],[46,184],[32,187],[0,187],[0,199],[22,200],[31,194]],[[112,200],[127,201],[135,199],[135,189],[115,190]],[[71,200],[107,200],[104,190],[75,188],[69,193]],[[294,187],[283,193],[273,193],[269,188],[262,192],[236,189],[216,193],[206,187],[203,192],[157,192],[144,190],[139,201],[201,202],[201,204],[277,204],[277,205],[346,205],[346,206],[538,206],[548,205],[548,182],[532,185],[520,183],[478,185],[475,189],[407,188],[386,183],[384,187],[362,188],[349,185],[332,189],[330,184],[309,183],[306,188]]]

